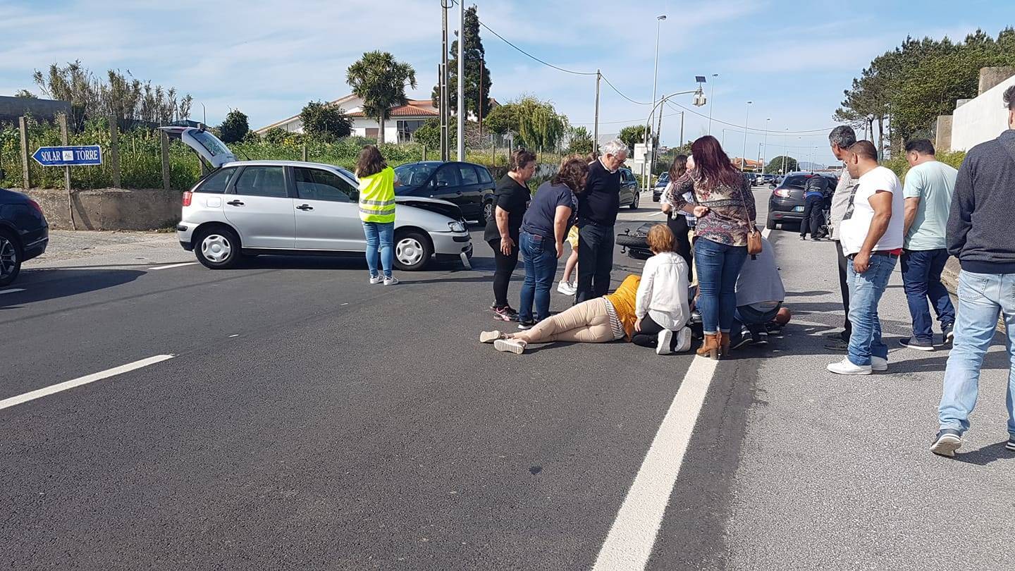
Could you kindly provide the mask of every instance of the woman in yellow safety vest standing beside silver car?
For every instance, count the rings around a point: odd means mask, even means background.
[[[356,162],[359,179],[359,219],[366,236],[366,266],[370,283],[394,286],[398,278],[391,274],[395,262],[395,171],[388,166],[377,146],[368,144]],[[378,254],[384,274],[378,271]]]

